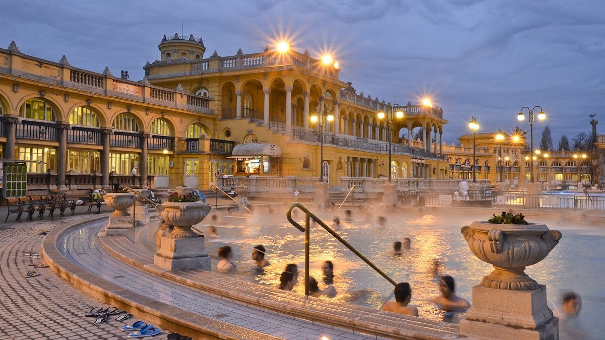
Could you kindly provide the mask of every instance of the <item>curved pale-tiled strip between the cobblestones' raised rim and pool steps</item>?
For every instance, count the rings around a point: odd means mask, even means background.
[[[158,301],[189,312],[284,339],[322,339],[324,336],[330,340],[376,339],[374,336],[367,338],[350,330],[248,307],[142,272],[116,260],[100,247],[97,233],[104,224],[104,221],[91,222],[82,229],[68,232],[62,240],[65,244],[61,247],[62,252],[84,269],[132,292],[154,296]]]

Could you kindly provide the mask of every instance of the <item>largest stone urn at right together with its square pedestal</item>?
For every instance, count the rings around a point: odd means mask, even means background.
[[[546,224],[473,222],[461,230],[476,257],[494,271],[473,287],[460,335],[474,339],[558,339],[558,319],[546,306],[546,286],[525,267],[544,260],[561,239]]]

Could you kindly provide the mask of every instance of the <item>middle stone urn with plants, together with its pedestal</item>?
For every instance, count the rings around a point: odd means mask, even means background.
[[[210,270],[210,257],[204,249],[204,238],[191,230],[191,226],[204,220],[210,210],[211,206],[201,202],[162,203],[160,215],[174,229],[168,236],[162,237],[154,264],[168,270]]]

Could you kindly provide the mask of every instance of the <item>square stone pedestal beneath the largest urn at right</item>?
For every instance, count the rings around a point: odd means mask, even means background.
[[[473,287],[473,307],[460,321],[473,339],[558,339],[558,319],[546,306],[546,286],[535,290]]]

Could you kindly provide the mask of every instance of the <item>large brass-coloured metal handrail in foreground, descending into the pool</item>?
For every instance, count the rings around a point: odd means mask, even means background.
[[[301,209],[302,212],[305,213],[305,227],[302,227],[300,224],[298,224],[298,222],[296,222],[295,220],[292,219],[292,209],[294,209],[294,208]],[[353,247],[347,241],[345,241],[344,238],[342,238],[342,237],[340,237],[340,235],[336,234],[336,232],[334,230],[332,230],[332,228],[327,226],[322,220],[320,220],[317,216],[315,216],[315,214],[310,212],[309,209],[307,209],[301,203],[298,203],[298,202],[292,203],[292,205],[290,205],[290,208],[288,208],[288,211],[286,212],[286,218],[288,219],[288,221],[290,221],[290,223],[292,223],[293,226],[296,227],[296,229],[301,230],[301,232],[304,232],[304,269],[305,269],[304,294],[305,295],[307,295],[307,296],[309,295],[309,242],[310,242],[310,236],[311,236],[310,218],[313,218],[313,221],[315,221],[317,224],[322,226],[327,232],[329,232],[334,238],[336,238],[336,240],[338,240],[338,241],[340,241],[340,243],[344,244],[345,247],[347,247],[349,250],[351,250],[353,253],[355,253],[355,255],[357,255],[357,257],[361,258],[361,260],[363,260],[365,263],[367,263],[368,266],[370,266],[372,269],[376,270],[377,273],[379,273],[380,275],[382,275],[382,277],[387,279],[387,281],[390,282],[391,284],[393,284],[393,286],[397,286],[397,283],[393,279],[391,279],[387,274],[382,272],[382,270],[378,269],[378,267],[376,267],[370,260],[368,260],[368,258],[366,258],[362,253],[360,253],[357,249],[355,249],[355,247]]]

